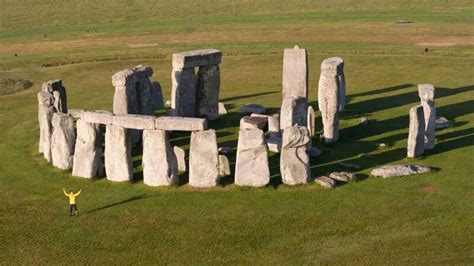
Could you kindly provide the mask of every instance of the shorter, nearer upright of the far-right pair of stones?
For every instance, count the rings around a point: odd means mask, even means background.
[[[408,133],[407,157],[414,158],[425,152],[425,118],[423,106],[410,109],[410,131]]]

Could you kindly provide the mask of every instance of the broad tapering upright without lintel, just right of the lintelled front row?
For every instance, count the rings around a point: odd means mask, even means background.
[[[260,129],[241,129],[237,144],[235,184],[263,187],[270,182],[267,147]]]

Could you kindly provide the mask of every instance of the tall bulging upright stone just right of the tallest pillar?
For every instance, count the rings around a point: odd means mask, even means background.
[[[318,105],[323,120],[323,134],[326,143],[339,139],[339,111],[343,109],[345,96],[341,87],[340,71],[342,59],[332,57],[321,64],[318,87]]]

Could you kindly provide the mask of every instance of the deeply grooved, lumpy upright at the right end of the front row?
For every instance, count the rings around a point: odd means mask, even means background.
[[[283,131],[280,172],[284,184],[299,185],[310,181],[310,161],[306,152],[309,142],[306,127],[289,126]]]

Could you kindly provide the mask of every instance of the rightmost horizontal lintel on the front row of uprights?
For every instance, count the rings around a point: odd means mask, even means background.
[[[207,128],[204,118],[162,116],[155,119],[155,128],[168,131],[202,131]]]

